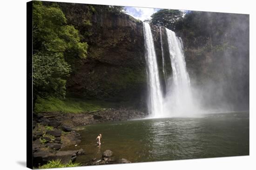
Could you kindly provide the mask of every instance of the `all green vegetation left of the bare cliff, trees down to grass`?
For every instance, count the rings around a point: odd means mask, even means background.
[[[76,64],[88,56],[92,15],[120,15],[124,10],[122,6],[33,1],[35,112],[79,113],[98,109],[84,102],[65,100],[67,79],[75,73]]]

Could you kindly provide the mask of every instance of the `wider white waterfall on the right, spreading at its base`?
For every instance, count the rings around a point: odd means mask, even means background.
[[[165,110],[172,116],[191,115],[195,110],[192,100],[189,74],[186,69],[183,44],[175,32],[165,28],[168,39],[168,50],[172,67],[172,82],[168,86],[165,99]]]

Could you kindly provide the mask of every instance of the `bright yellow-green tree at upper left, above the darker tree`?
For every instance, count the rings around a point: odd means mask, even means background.
[[[78,30],[73,25],[67,25],[59,7],[43,6],[42,2],[34,1],[33,48],[35,52],[63,55],[73,52],[79,57],[86,57],[88,44],[80,42]]]

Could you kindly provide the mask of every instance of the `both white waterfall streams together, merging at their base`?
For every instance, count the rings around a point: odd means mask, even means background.
[[[154,41],[150,25],[143,23],[145,40],[145,58],[148,75],[148,112],[149,118],[163,118],[173,116],[189,116],[195,111],[192,100],[189,74],[186,69],[185,57],[181,38],[175,32],[160,27],[162,50],[162,73],[166,83],[166,92],[163,94]],[[168,40],[168,51],[172,67],[172,76],[167,77],[162,45],[162,28],[165,29]]]

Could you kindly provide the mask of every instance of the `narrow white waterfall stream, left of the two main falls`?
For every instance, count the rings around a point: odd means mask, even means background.
[[[148,112],[149,117],[163,117],[163,98],[159,80],[158,65],[155,54],[155,46],[150,25],[143,23],[145,58],[148,75]]]

